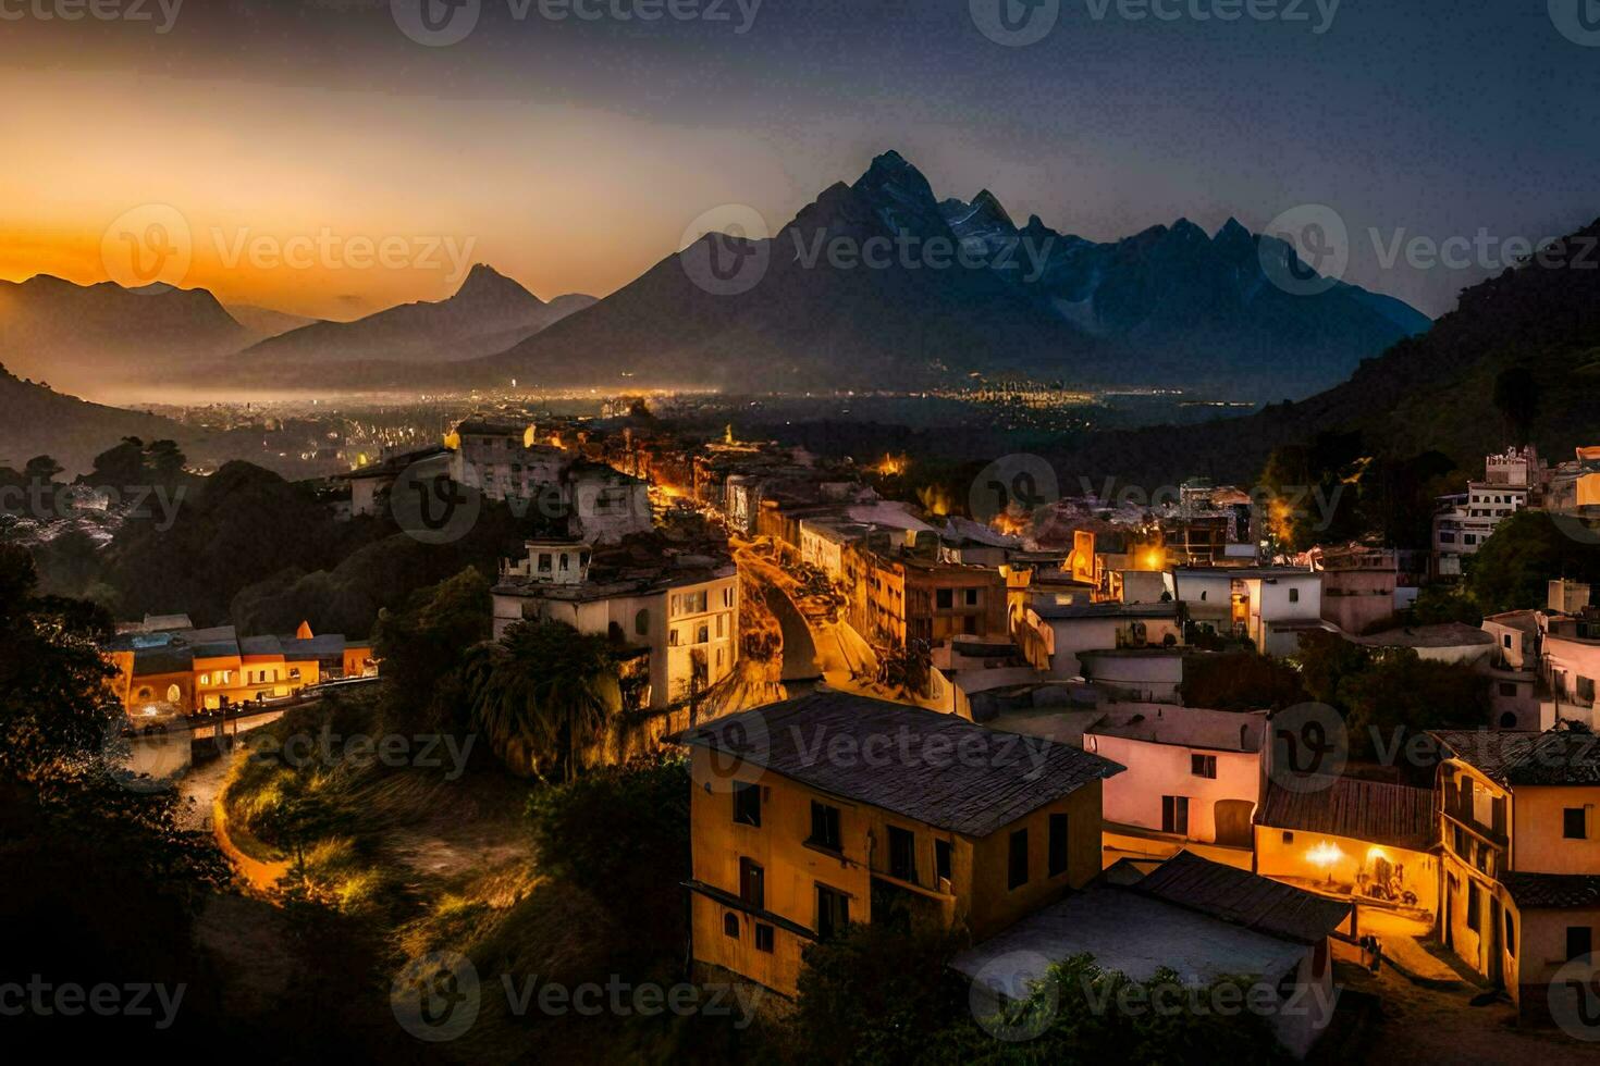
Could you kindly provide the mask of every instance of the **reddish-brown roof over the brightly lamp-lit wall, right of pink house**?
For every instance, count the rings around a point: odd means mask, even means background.
[[[1434,790],[1354,777],[1334,778],[1330,788],[1314,793],[1269,783],[1256,825],[1426,852],[1437,833]]]

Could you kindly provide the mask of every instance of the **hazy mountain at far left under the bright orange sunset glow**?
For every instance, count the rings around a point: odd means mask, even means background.
[[[205,289],[0,281],[0,363],[72,392],[160,380],[254,339]]]

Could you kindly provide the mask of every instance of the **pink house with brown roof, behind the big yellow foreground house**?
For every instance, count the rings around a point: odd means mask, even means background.
[[[1106,865],[1190,847],[1250,869],[1267,713],[1115,703],[1083,750],[1128,767],[1104,785]]]

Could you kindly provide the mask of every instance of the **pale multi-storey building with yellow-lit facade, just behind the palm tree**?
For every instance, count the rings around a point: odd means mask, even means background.
[[[565,622],[637,652],[648,678],[642,708],[666,710],[733,673],[739,657],[739,577],[715,545],[672,548],[632,537],[613,548],[530,540],[491,590],[494,639],[523,620]]]

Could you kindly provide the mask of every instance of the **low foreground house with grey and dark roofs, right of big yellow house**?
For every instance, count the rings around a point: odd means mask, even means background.
[[[957,954],[954,969],[997,1000],[1026,999],[1050,967],[1083,954],[1134,981],[1174,973],[1181,988],[1166,989],[1170,1002],[1243,978],[1253,1010],[1304,1058],[1333,1018],[1328,938],[1350,905],[1187,850],[1142,866],[1118,863],[1088,890]]]

